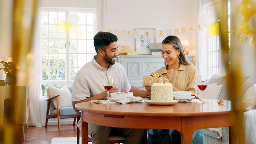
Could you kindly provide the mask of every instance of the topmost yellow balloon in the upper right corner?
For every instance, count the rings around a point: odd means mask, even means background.
[[[256,3],[253,0],[243,0],[238,6],[239,13],[248,19],[256,13],[255,9]]]

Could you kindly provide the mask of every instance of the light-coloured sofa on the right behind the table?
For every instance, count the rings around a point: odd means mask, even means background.
[[[208,89],[208,91],[207,91]],[[256,76],[242,76],[241,86],[238,90],[243,98],[241,102],[251,105],[251,110],[244,112],[244,132],[245,143],[256,143]],[[208,81],[208,87],[204,91],[204,99],[222,99],[229,100],[227,90],[226,76],[214,74]],[[212,129],[203,129],[205,144],[228,144],[228,127]]]

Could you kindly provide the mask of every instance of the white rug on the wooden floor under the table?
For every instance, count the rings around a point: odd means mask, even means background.
[[[66,137],[66,138],[52,138],[51,144],[76,144],[76,137]],[[80,137],[80,143],[82,143],[82,139]],[[92,142],[88,142],[88,144],[92,144]]]

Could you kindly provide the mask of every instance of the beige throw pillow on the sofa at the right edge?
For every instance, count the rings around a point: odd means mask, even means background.
[[[245,92],[241,102],[251,105],[251,109],[256,108],[256,84],[253,84],[253,86]]]

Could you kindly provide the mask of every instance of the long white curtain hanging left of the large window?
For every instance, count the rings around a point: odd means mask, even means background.
[[[31,52],[34,55],[34,59],[31,62],[31,73],[29,78],[29,99],[30,99],[30,125],[41,127],[45,124],[44,114],[43,114],[43,99],[40,93],[40,62],[41,62],[41,30],[40,30],[40,12],[39,12],[39,2],[37,5],[36,19],[35,19],[35,29],[33,36],[33,43]]]

